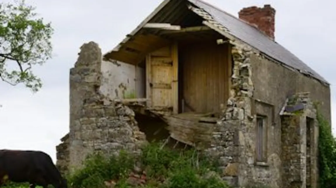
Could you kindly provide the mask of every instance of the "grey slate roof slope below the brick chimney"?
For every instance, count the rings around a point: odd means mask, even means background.
[[[201,0],[188,1],[196,5],[198,8],[204,9],[217,22],[227,28],[227,32],[229,34],[241,39],[265,55],[274,58],[291,68],[299,70],[303,74],[310,75],[322,82],[328,83],[321,75],[308,67],[298,57],[296,57],[282,45],[270,39],[255,27],[247,24],[245,21]]]

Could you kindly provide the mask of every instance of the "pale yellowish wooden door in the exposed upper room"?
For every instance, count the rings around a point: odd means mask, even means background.
[[[146,57],[147,106],[178,112],[177,45],[166,46]]]

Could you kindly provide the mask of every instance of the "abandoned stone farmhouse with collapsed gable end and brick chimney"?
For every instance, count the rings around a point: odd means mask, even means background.
[[[237,18],[201,0],[165,0],[112,51],[83,44],[58,167],[166,140],[220,158],[238,187],[316,188],[313,102],[331,122],[329,83],[276,42],[275,13],[252,6]]]

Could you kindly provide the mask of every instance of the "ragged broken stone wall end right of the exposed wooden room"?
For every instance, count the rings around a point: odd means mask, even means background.
[[[250,142],[246,142],[249,141],[246,138],[251,137],[249,131],[254,127],[251,123],[253,83],[250,66],[253,52],[248,46],[232,41],[231,43],[234,66],[230,95],[227,106],[222,107],[222,118],[214,126],[211,147],[206,152],[220,158],[222,176],[229,184],[242,186],[249,174],[246,171],[247,166],[253,166],[254,155],[254,152],[249,153],[246,150],[247,147],[253,148]]]

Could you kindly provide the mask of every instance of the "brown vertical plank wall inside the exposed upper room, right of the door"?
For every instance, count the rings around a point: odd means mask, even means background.
[[[231,76],[231,53],[228,44],[216,41],[180,43],[179,64],[182,71],[179,84],[184,112],[219,112],[226,105]],[[183,96],[181,96],[183,95]]]

